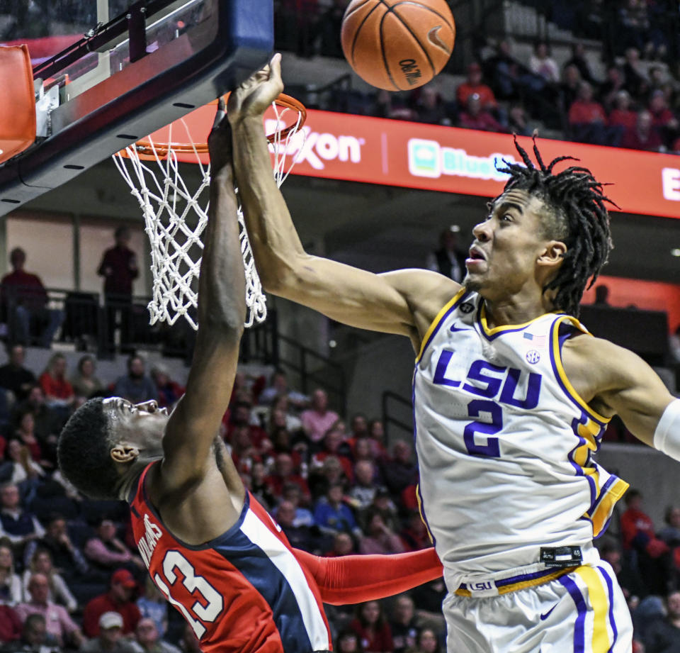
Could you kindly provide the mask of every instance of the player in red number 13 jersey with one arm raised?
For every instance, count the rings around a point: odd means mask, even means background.
[[[441,565],[433,549],[329,559],[293,549],[244,489],[218,437],[245,318],[231,136],[221,109],[208,140],[210,219],[186,394],[171,415],[155,401],[88,401],[62,431],[60,467],[87,496],[130,502],[149,574],[203,651],[328,651],[322,601],[382,598],[441,576]]]

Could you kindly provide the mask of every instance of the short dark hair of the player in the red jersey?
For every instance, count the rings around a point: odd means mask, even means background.
[[[115,499],[120,475],[111,459],[110,423],[103,399],[86,401],[62,429],[57,457],[62,474],[84,495]]]

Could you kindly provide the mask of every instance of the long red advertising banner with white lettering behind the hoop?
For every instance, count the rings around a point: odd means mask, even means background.
[[[194,142],[205,142],[214,115],[208,106],[184,118]],[[266,116],[266,131],[275,126]],[[152,138],[167,140],[166,130]],[[506,181],[497,164],[519,160],[507,134],[312,110],[303,130],[305,138],[293,139],[286,163],[295,160],[293,174],[312,177],[494,197]],[[174,128],[176,140],[184,140],[180,131]],[[521,143],[528,149],[531,139]],[[600,182],[613,184],[606,194],[622,211],[680,218],[680,156],[559,140],[538,143],[543,160],[576,157]],[[196,155],[181,160],[196,162]]]

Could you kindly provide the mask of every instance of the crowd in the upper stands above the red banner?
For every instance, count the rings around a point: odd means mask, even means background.
[[[275,3],[277,48],[301,56],[341,57],[339,33],[347,4],[348,0]],[[613,47],[601,49],[607,65],[604,79],[591,71],[578,40],[570,59],[560,66],[544,41],[523,60],[514,55],[511,40],[504,39],[478,49],[477,61],[467,67],[467,79],[455,94],[441,92],[450,82],[435,79],[414,91],[376,91],[363,100],[343,96],[345,91],[327,99],[319,95],[319,108],[519,135],[531,135],[545,125],[561,131],[566,140],[680,152],[678,43],[668,36],[669,16],[676,26],[680,21],[677,3],[553,0],[539,5],[576,37],[615,35]],[[460,71],[449,66],[448,72]]]

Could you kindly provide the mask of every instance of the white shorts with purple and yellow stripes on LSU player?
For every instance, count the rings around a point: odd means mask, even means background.
[[[611,567],[584,565],[497,596],[449,594],[448,653],[630,653],[633,623]]]

